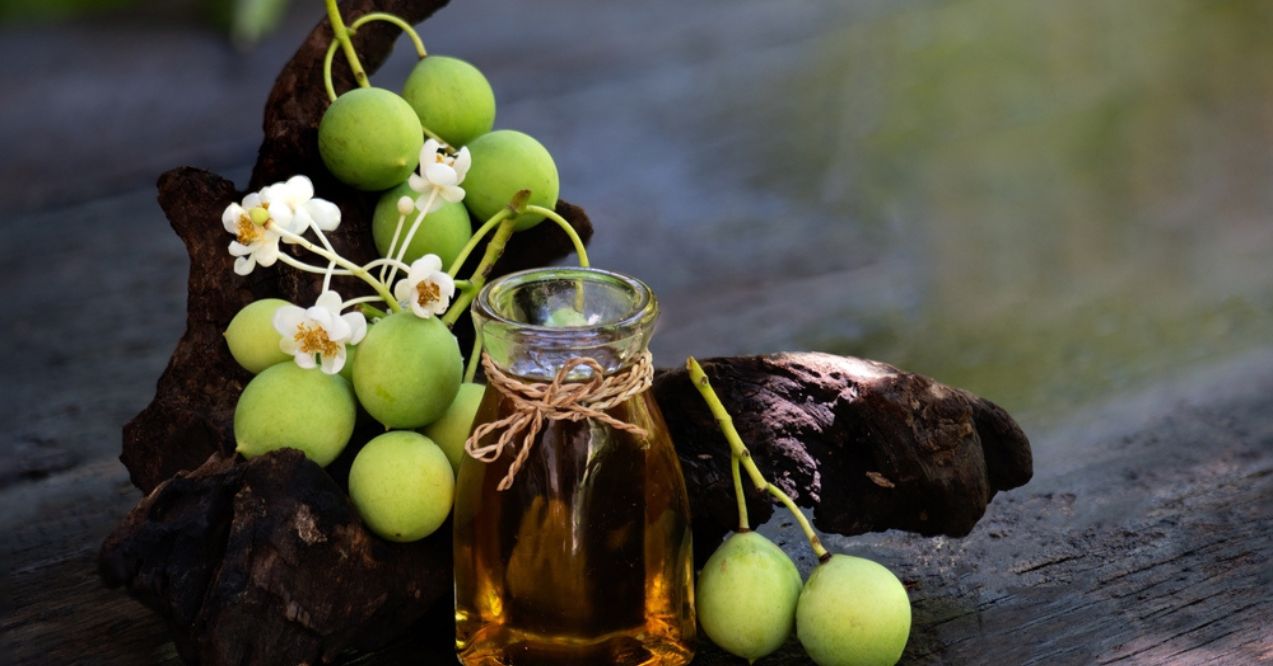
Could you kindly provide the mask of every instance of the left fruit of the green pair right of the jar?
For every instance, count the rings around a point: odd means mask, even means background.
[[[722,649],[755,661],[791,635],[799,590],[799,570],[783,549],[756,532],[735,534],[699,573],[699,623]]]

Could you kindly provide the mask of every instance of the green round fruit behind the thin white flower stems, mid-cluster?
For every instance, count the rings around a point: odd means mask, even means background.
[[[381,195],[379,202],[376,204],[376,214],[372,216],[372,238],[376,241],[376,251],[382,257],[388,256],[390,242],[393,241],[393,232],[397,229],[400,216],[397,210],[398,199],[404,196],[415,199],[419,195],[407,183],[401,183]],[[411,230],[411,223],[415,222],[415,216],[419,213],[419,210],[411,208],[411,213],[402,220],[402,230],[398,233],[398,247],[406,239],[406,232]],[[449,267],[451,262],[460,256],[460,251],[468,243],[468,238],[472,234],[474,229],[468,222],[468,209],[458,201],[454,204],[443,202],[440,209],[429,213],[424,218],[424,222],[420,223],[420,228],[411,237],[411,244],[407,246],[406,256],[402,257],[402,261],[411,264],[424,255],[438,255],[442,259],[442,266]],[[393,253],[397,255],[397,252],[398,248],[395,248]]]

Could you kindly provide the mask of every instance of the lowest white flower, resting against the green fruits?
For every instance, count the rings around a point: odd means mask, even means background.
[[[340,313],[340,294],[326,290],[313,307],[283,306],[274,313],[274,330],[283,336],[279,349],[295,357],[297,365],[313,368],[314,355],[322,371],[336,374],[345,367],[345,345],[356,345],[367,335],[360,312]]]

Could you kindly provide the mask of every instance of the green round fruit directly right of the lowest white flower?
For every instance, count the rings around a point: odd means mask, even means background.
[[[460,343],[440,318],[398,312],[358,344],[354,391],[386,428],[421,428],[456,399],[462,374]]]

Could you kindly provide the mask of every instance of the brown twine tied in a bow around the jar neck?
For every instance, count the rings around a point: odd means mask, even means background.
[[[490,354],[486,353],[481,355],[481,364],[486,371],[486,382],[513,402],[513,413],[479,425],[465,442],[465,451],[482,462],[493,462],[504,455],[505,448],[517,446],[513,439],[522,437],[517,457],[508,466],[508,474],[499,481],[499,490],[513,486],[513,479],[535,448],[535,437],[540,434],[545,420],[597,419],[616,430],[625,430],[636,437],[648,434],[644,428],[619,420],[606,411],[651,387],[654,381],[654,364],[649,351],[638,357],[630,368],[611,376],[605,374],[605,369],[596,359],[577,357],[565,362],[549,383],[524,382],[504,373],[495,367]],[[580,365],[591,368],[592,377],[583,382],[565,381],[570,371]],[[491,444],[479,446],[482,437],[496,430],[500,430],[499,439]]]

